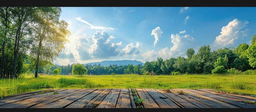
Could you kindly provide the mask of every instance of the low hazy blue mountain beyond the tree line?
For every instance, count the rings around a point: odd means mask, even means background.
[[[104,60],[104,61],[101,61],[101,62],[92,62],[92,63],[85,63],[84,65],[98,65],[98,64],[101,64],[101,66],[109,66],[109,65],[115,65],[117,64],[117,66],[125,66],[125,65],[128,65],[128,64],[132,64],[132,65],[144,65],[144,63],[140,62],[140,61],[137,61],[137,60]]]

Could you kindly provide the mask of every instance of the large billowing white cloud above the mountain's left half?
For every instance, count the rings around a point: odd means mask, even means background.
[[[115,37],[110,36],[106,31],[96,31],[91,38],[94,44],[90,46],[88,52],[92,58],[109,58],[121,52],[118,48],[122,42],[112,43],[111,40]]]

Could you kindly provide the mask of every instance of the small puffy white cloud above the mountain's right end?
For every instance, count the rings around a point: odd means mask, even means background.
[[[120,53],[120,55],[132,55],[134,54],[134,56],[136,54],[139,54],[139,48],[140,48],[140,43],[137,42],[136,45],[133,45],[133,43],[130,43],[128,45],[126,45],[126,47],[124,49],[122,49],[122,53]]]

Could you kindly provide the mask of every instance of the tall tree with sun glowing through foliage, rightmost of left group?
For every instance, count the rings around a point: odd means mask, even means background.
[[[49,63],[59,56],[59,52],[65,49],[64,44],[69,42],[67,36],[67,22],[59,20],[61,7],[40,7],[35,12],[35,21],[30,24],[31,55],[35,61],[35,77],[38,75],[38,67]]]

